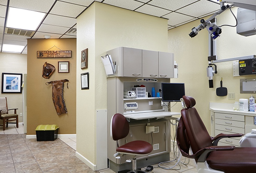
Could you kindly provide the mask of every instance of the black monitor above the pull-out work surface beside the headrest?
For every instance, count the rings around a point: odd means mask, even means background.
[[[184,83],[162,83],[162,101],[180,101],[185,95]]]

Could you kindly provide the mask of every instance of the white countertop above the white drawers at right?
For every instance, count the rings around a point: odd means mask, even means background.
[[[213,103],[210,102],[209,110],[217,113],[229,113],[229,114],[236,114],[236,115],[244,115],[244,116],[256,116],[256,112],[250,111],[239,111],[233,110],[234,104],[233,103]]]

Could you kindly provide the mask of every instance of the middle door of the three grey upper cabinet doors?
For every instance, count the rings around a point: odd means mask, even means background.
[[[158,78],[158,52],[142,50],[142,77]]]

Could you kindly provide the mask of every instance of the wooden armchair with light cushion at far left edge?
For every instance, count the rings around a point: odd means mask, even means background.
[[[14,113],[9,113],[9,110],[14,110]],[[18,114],[16,110],[17,109],[8,109],[7,98],[0,97],[0,119],[3,120],[3,130],[5,130],[5,123],[6,127],[8,127],[9,121],[16,121],[16,127],[19,128]]]

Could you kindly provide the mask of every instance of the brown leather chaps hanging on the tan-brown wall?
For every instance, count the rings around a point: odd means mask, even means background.
[[[52,101],[58,115],[67,113],[66,104],[63,98],[64,82],[69,80],[63,79],[58,81],[46,82],[46,85],[52,84]],[[68,83],[67,83],[68,88]]]

